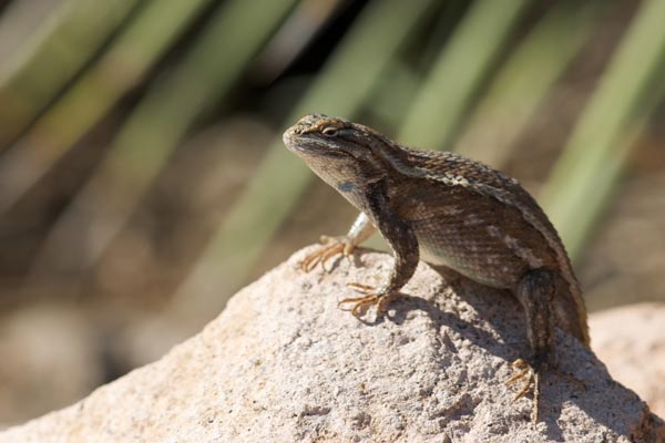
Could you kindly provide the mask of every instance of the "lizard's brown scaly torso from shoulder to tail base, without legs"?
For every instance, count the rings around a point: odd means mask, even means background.
[[[400,173],[389,178],[399,185],[387,188],[400,194],[392,200],[415,229],[422,259],[510,290],[529,269],[556,271],[560,327],[589,346],[586,310],[570,258],[519,182],[458,154],[399,148],[383,151]]]

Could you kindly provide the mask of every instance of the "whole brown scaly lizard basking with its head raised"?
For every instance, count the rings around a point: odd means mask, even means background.
[[[540,373],[555,364],[554,328],[587,349],[590,337],[570,258],[535,199],[516,179],[480,162],[407,147],[340,117],[305,115],[283,138],[360,210],[345,236],[321,237],[323,246],[303,260],[303,269],[349,256],[378,230],[392,249],[393,266],[380,286],[349,284],[360,296],[339,303],[356,316],[372,305],[383,311],[420,259],[511,291],[525,313],[531,356],[513,362],[519,372],[507,383],[525,379],[514,400],[533,385],[538,422]]]

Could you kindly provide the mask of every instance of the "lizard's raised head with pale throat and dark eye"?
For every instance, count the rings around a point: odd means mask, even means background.
[[[386,168],[376,151],[385,143],[367,126],[323,114],[305,115],[284,133],[286,147],[336,188],[352,178],[380,176]]]

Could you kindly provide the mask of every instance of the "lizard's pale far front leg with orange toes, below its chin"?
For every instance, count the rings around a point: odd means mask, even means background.
[[[341,254],[345,257],[351,255],[356,246],[367,240],[377,230],[365,213],[360,213],[344,236],[321,236],[323,247],[309,254],[300,262],[300,268],[306,272],[313,270],[318,264],[326,268],[326,261]]]

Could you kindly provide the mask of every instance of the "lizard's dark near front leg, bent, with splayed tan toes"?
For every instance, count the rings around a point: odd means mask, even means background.
[[[375,226],[390,245],[395,262],[388,279],[379,287],[359,282],[349,284],[362,296],[346,298],[339,302],[339,306],[352,305],[349,310],[355,316],[361,315],[372,305],[378,305],[379,311],[382,311],[385,303],[409,281],[419,260],[418,239],[413,229],[390,208],[382,193],[375,192],[368,196],[368,209]]]

